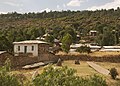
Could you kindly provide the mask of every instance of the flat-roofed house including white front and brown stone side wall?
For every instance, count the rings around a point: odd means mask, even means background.
[[[39,40],[14,42],[15,57],[33,57],[37,61],[50,61],[53,54],[49,52],[49,44]],[[31,58],[29,58],[31,59]]]

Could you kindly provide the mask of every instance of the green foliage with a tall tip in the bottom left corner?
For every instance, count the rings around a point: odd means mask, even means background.
[[[17,77],[10,73],[10,66],[10,60],[7,59],[0,70],[0,86],[21,86]]]

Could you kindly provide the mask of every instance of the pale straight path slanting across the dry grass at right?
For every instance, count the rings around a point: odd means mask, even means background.
[[[103,75],[109,75],[110,71],[93,63],[93,62],[87,62],[87,64],[92,67],[93,69],[95,69],[97,72],[103,74]]]

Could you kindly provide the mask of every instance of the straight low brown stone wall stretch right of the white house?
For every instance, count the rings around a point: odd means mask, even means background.
[[[120,55],[115,56],[103,56],[103,57],[95,57],[95,56],[89,56],[89,55],[58,55],[56,56],[58,58],[61,58],[62,60],[76,60],[79,59],[81,61],[96,61],[96,62],[120,62]]]

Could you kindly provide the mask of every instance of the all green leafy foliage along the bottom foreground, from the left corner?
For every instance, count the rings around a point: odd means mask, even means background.
[[[107,86],[106,81],[98,76],[82,78],[76,76],[76,70],[49,65],[34,79],[27,79],[24,75],[12,74],[10,60],[0,68],[0,86]]]

